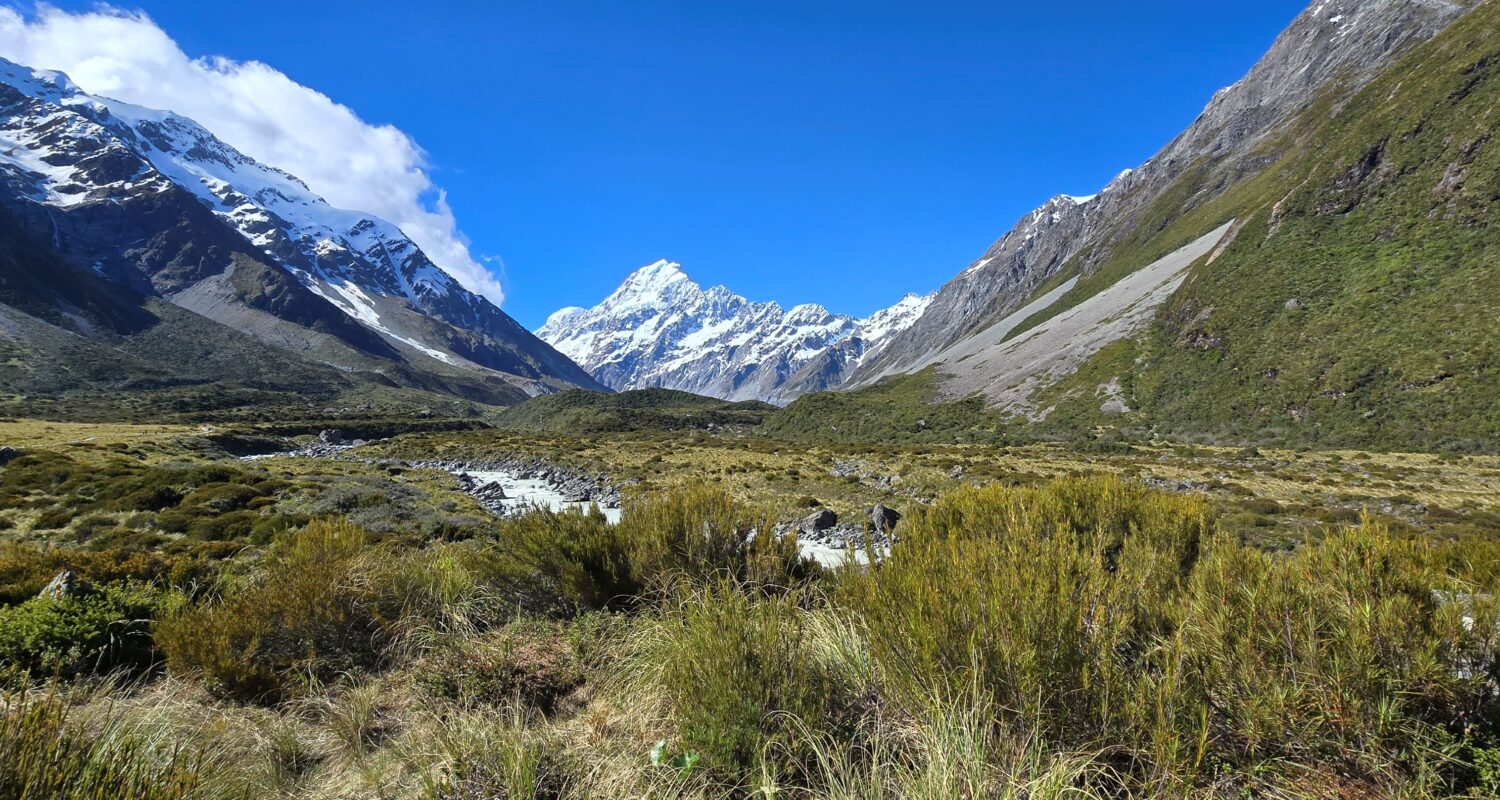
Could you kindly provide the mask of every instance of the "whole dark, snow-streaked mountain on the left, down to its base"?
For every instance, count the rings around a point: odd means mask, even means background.
[[[20,393],[603,389],[394,225],[330,207],[189,119],[3,60],[0,215],[0,369]]]

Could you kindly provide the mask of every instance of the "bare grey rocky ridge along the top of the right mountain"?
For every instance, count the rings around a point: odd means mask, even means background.
[[[1206,168],[1185,209],[1222,194],[1274,161],[1256,144],[1326,86],[1344,93],[1364,86],[1395,56],[1425,42],[1474,0],[1317,0],[1276,39],[1244,80],[1221,90],[1203,114],[1144,165],[1128,170],[1098,195],[1060,195],[1023,218],[888,347],[866,359],[849,386],[918,371],[945,348],[1018,309],[1042,284],[1077,258],[1078,272],[1100,266],[1116,243],[1190,168]],[[1227,222],[1218,221],[1216,224]],[[1206,233],[1206,231],[1203,231]]]

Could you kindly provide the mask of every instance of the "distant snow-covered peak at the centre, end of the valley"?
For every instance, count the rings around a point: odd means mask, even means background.
[[[909,294],[864,320],[819,305],[783,311],[724,287],[704,288],[680,264],[657,261],[597,306],[552,314],[537,336],[610,389],[788,402],[837,386],[846,369],[916,321],[927,302]],[[825,362],[836,368],[810,372]]]

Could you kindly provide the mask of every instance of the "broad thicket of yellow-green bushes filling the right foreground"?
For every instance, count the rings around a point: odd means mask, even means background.
[[[1458,737],[1496,731],[1494,543],[1366,521],[1269,554],[1114,479],[962,489],[903,525],[836,600],[912,714],[978,689],[1008,729],[1172,792],[1290,764],[1450,789]]]

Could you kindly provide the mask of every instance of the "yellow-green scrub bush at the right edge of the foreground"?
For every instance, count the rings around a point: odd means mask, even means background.
[[[1372,522],[1292,557],[1215,542],[1167,648],[1210,755],[1413,774],[1450,732],[1494,729],[1494,587],[1438,563]]]

